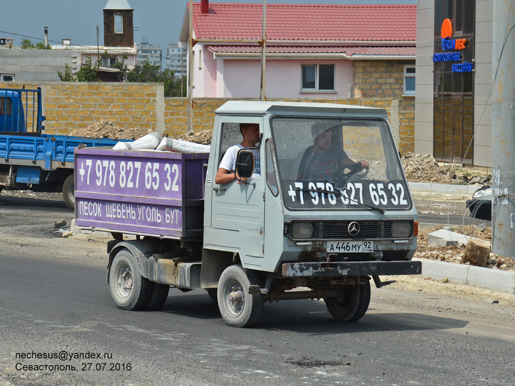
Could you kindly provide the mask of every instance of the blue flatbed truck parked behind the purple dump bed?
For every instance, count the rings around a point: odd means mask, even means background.
[[[0,89],[0,191],[62,191],[74,209],[74,149],[117,140],[44,134],[44,120],[40,87]]]

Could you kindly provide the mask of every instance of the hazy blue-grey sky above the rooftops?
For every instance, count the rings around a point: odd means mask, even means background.
[[[163,50],[177,43],[186,4],[189,0],[127,0],[134,9],[134,43],[148,41]],[[194,0],[200,3],[200,0]],[[218,0],[210,3],[256,3],[262,0]],[[417,4],[416,0],[267,0],[268,4]],[[1,0],[0,38],[22,39],[34,43],[44,41],[48,27],[50,44],[71,39],[72,44],[96,45],[97,25],[99,43],[104,43],[104,12],[107,0]],[[21,36],[23,35],[23,36]],[[1,62],[0,62],[1,64]]]

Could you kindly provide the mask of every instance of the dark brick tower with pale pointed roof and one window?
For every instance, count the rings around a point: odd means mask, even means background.
[[[134,45],[133,11],[127,0],[108,0],[104,7],[105,47],[132,47]]]

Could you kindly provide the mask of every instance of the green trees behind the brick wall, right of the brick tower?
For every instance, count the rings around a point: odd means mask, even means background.
[[[145,64],[136,64],[131,71],[127,73],[128,82],[152,82],[152,83],[163,83],[164,85],[164,96],[165,97],[177,97],[181,96],[181,79],[177,79],[174,76],[174,72],[168,68],[161,71],[161,68],[157,64],[150,64],[147,60]],[[185,84],[183,81],[185,96]]]

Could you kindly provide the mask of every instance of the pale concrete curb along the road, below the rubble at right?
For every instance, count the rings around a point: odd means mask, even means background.
[[[418,257],[414,257],[413,260],[422,261],[422,277],[435,280],[448,279],[449,282],[454,284],[485,287],[515,294],[515,272],[420,259]]]

